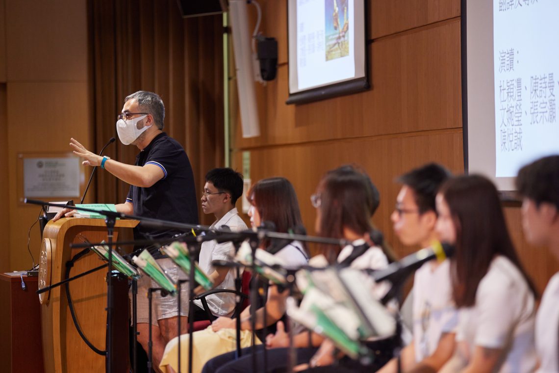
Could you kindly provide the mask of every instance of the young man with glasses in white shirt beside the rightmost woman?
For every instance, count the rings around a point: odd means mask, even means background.
[[[449,172],[430,163],[400,176],[402,188],[391,215],[394,232],[409,246],[429,247],[437,240],[435,196]],[[449,261],[433,260],[415,272],[413,287],[413,340],[379,372],[438,371],[454,351],[458,313],[452,301]]]

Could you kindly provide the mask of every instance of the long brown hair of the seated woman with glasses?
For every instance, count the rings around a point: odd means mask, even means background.
[[[321,237],[343,238],[344,228],[358,235],[371,232],[371,216],[377,210],[380,197],[371,178],[356,166],[342,166],[327,172],[319,182]],[[389,261],[395,256],[390,247],[381,245]],[[339,247],[320,245],[319,251],[331,262],[340,252]]]

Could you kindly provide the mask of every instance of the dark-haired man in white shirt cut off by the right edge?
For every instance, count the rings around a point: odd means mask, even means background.
[[[559,155],[524,166],[518,172],[524,237],[549,249],[559,261]],[[549,280],[536,315],[538,373],[559,371],[559,272]]]

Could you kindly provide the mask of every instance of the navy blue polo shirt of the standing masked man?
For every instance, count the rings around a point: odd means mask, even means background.
[[[178,141],[161,133],[136,157],[136,166],[154,164],[163,171],[163,178],[149,188],[130,186],[127,202],[134,205],[134,215],[146,218],[198,224],[198,206],[190,160]],[[177,230],[134,228],[135,239],[164,239]]]

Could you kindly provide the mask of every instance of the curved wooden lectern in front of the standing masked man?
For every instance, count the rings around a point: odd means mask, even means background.
[[[134,228],[138,220],[117,220],[113,240],[122,229]],[[83,249],[71,249],[71,243],[107,240],[105,220],[63,218],[50,221],[43,233],[39,269],[39,289],[66,277],[67,262]],[[70,277],[104,262],[89,252],[75,261]],[[69,283],[77,322],[84,336],[98,350],[105,350],[107,322],[107,268]],[[128,371],[129,302],[126,281],[115,281],[115,372]],[[46,373],[105,371],[105,356],[98,355],[80,337],[68,306],[65,285],[40,295],[42,346]]]

